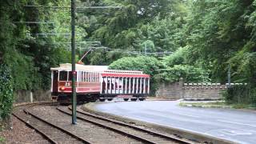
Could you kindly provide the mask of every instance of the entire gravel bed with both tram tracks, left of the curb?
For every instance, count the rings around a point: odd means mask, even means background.
[[[48,143],[192,143],[83,110],[78,110],[78,125],[72,126],[70,114],[67,106],[56,107],[47,102],[15,106],[13,112],[14,117],[36,130]]]

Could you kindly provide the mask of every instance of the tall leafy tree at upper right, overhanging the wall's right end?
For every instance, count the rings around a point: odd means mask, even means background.
[[[233,82],[255,80],[255,67],[249,64],[255,58],[255,2],[204,0],[190,7],[184,26],[190,63],[201,61],[220,82],[226,82],[228,64]]]

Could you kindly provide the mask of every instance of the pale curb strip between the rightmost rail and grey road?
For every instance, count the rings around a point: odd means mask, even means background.
[[[131,118],[124,118],[122,116],[117,116],[114,114],[106,114],[101,111],[95,110],[95,105],[97,105],[97,102],[88,103],[88,104],[82,106],[82,110],[89,111],[94,114],[102,115],[106,118],[114,118],[118,121],[127,122],[130,124],[136,124],[138,126],[146,126],[148,128],[152,128],[154,130],[159,130],[159,131],[166,132],[168,134],[173,134],[180,138],[186,138],[190,141],[194,141],[195,143],[213,143],[213,144],[231,144],[231,143],[234,144],[234,143],[236,143],[236,142],[231,142],[229,140],[225,140],[222,138],[215,138],[215,137],[205,135],[205,134],[198,134],[198,133],[191,132],[188,130],[181,130],[181,129],[177,129],[177,128],[173,128],[173,127],[166,127],[166,126],[161,126],[161,125],[157,125],[157,124],[152,124],[149,122],[142,122],[142,121],[134,120]]]

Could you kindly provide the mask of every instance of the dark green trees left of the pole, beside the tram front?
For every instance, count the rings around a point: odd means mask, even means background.
[[[69,6],[70,2],[1,2],[0,51],[2,61],[10,66],[14,89],[47,90],[50,88],[50,67],[58,66],[60,62],[70,62],[70,52],[63,45],[69,39],[61,35],[70,33],[70,13],[26,5]],[[54,23],[26,23],[49,21]],[[79,27],[77,30],[82,32]],[[44,35],[49,33],[60,35]]]

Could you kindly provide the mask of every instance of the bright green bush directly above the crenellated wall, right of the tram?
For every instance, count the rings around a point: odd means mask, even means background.
[[[163,57],[161,62],[165,69],[155,76],[161,82],[178,82],[180,78],[184,78],[185,82],[210,82],[210,72],[201,68],[201,65],[187,63],[188,47],[180,47],[173,54]]]

